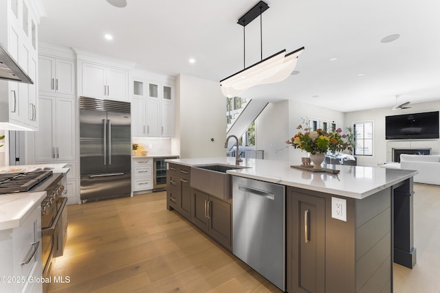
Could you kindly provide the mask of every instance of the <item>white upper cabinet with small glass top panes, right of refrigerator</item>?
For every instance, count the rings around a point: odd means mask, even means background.
[[[174,86],[133,80],[131,100],[133,137],[174,137]]]

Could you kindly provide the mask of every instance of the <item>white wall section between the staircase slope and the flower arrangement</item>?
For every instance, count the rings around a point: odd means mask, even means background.
[[[256,150],[264,150],[264,159],[289,159],[285,141],[289,138],[289,101],[269,103],[255,120]]]

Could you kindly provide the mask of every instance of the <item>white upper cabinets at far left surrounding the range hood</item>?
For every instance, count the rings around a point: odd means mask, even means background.
[[[36,113],[36,19],[38,14],[28,1],[0,1],[0,43],[8,49],[34,84],[0,82],[0,126],[6,130],[38,130]]]

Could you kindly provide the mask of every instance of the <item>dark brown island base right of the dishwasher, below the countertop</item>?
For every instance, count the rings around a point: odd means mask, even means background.
[[[393,258],[415,265],[412,195],[411,177],[363,199],[336,196],[345,222],[331,216],[335,195],[287,187],[287,292],[393,292]]]

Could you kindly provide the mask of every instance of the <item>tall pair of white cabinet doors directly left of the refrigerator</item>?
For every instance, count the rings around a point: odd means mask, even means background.
[[[75,99],[40,95],[39,132],[34,133],[38,163],[75,160]]]

